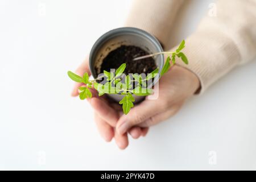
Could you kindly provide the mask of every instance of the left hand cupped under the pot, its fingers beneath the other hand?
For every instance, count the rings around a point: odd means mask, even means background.
[[[87,57],[85,61],[80,65],[80,67],[77,69],[77,75],[82,76],[85,72],[87,72],[90,75],[88,63],[89,61]],[[72,96],[75,97],[79,95],[78,88],[82,85],[82,83],[76,82],[73,88]],[[106,96],[98,97],[98,93],[96,90],[90,89],[90,91],[92,92],[93,97],[87,98],[87,100],[94,109],[94,120],[96,122],[98,131],[100,132],[102,138],[104,138],[107,142],[110,142],[112,138],[114,138],[119,148],[126,148],[129,143],[127,132],[119,134],[117,133],[117,130],[115,130],[117,121],[119,117],[122,115],[122,107],[117,103],[109,100]],[[130,129],[127,131],[131,135],[131,137],[137,139],[141,136],[146,136],[148,132],[148,127],[134,126],[130,127]]]

